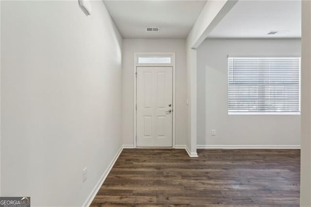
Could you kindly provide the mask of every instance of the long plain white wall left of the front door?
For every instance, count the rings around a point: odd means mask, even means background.
[[[91,4],[1,1],[2,196],[82,206],[121,147],[122,39]]]

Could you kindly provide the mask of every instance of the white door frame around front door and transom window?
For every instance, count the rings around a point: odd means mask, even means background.
[[[171,57],[170,64],[141,64],[138,63],[138,57]],[[137,148],[137,113],[136,113],[136,104],[137,104],[137,67],[172,67],[173,68],[173,137],[172,137],[172,147],[175,148],[175,105],[176,105],[176,98],[175,98],[175,52],[134,52],[134,70],[133,70],[133,77],[134,77],[134,134],[133,134],[133,143],[134,148]],[[162,148],[162,147],[161,147]]]

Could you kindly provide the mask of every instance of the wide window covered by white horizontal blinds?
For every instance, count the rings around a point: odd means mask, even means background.
[[[228,113],[300,112],[300,57],[228,57]]]

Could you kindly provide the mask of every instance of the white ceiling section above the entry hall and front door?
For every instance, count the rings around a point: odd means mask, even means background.
[[[104,0],[123,38],[186,38],[206,0]],[[160,27],[147,33],[145,27]]]

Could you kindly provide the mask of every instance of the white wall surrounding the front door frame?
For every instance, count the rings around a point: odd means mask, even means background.
[[[175,144],[185,145],[186,141],[186,52],[182,39],[123,39],[122,50],[122,138],[123,144],[133,145],[134,133],[134,52],[175,52],[176,62],[176,120]]]

